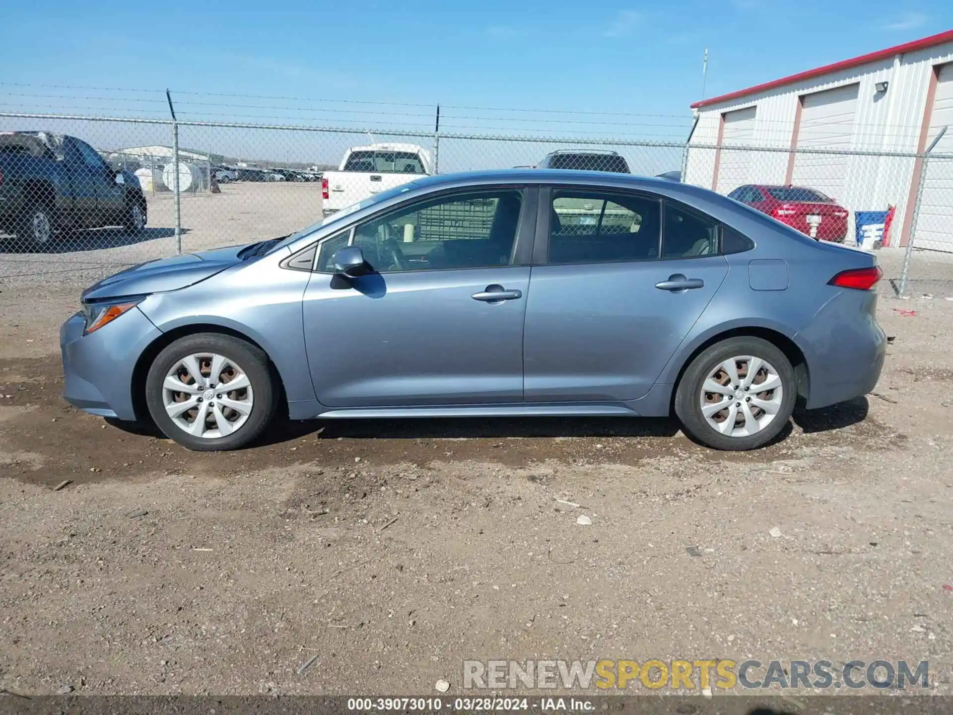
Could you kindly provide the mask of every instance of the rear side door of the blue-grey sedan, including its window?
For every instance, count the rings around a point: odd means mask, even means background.
[[[527,402],[644,396],[728,273],[717,223],[652,194],[540,191]]]

